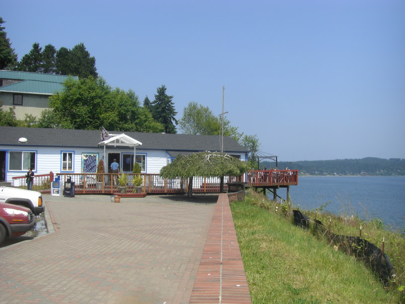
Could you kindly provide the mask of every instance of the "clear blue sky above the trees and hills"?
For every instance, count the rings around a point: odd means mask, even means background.
[[[404,0],[0,0],[18,55],[83,42],[142,102],[165,84],[279,161],[405,158]],[[225,147],[226,148],[226,147]]]

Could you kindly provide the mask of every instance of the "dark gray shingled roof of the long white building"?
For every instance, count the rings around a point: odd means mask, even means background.
[[[172,153],[179,151],[220,151],[221,137],[213,135],[161,134],[140,132],[114,132],[132,137],[142,143],[136,150],[166,150]],[[22,144],[18,139],[28,140]],[[0,127],[0,146],[37,146],[37,147],[83,147],[96,148],[101,142],[99,130],[41,129]],[[231,137],[225,136],[224,152],[248,152]]]

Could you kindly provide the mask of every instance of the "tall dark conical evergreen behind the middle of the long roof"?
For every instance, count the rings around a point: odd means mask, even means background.
[[[177,112],[174,109],[174,103],[172,101],[173,96],[166,94],[166,86],[162,84],[157,88],[157,94],[155,94],[155,100],[151,103],[150,112],[153,119],[156,122],[161,123],[164,126],[164,132],[175,134],[177,125],[175,118]]]

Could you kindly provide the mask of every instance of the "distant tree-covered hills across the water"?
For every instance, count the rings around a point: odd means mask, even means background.
[[[273,161],[261,161],[260,168],[275,168]],[[300,175],[405,175],[404,158],[335,159],[335,160],[303,160],[279,161],[278,168],[299,170]]]

